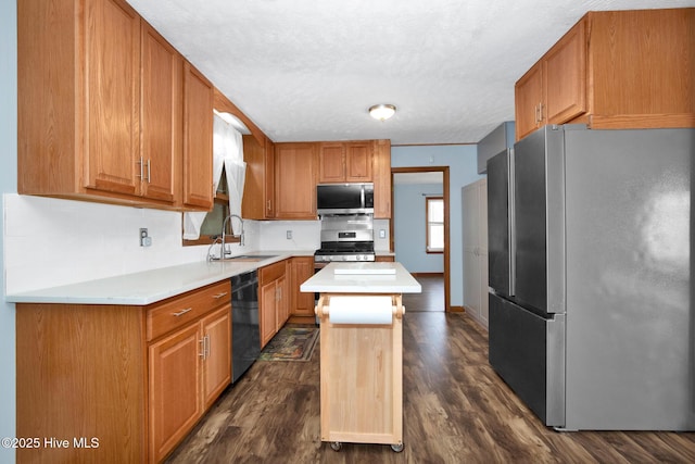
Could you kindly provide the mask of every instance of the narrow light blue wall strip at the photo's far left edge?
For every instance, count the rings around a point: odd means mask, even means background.
[[[0,192],[16,191],[17,178],[17,42],[16,2],[0,2]],[[5,217],[0,217],[2,230]],[[0,234],[0,259],[5,243]],[[4,266],[3,266],[4,267]],[[4,280],[4,273],[3,273]],[[16,437],[16,366],[14,304],[0,303],[0,437]],[[0,462],[14,463],[13,449],[0,447]]]

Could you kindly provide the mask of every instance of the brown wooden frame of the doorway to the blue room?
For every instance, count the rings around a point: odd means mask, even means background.
[[[439,178],[441,178],[441,184],[442,184],[442,191],[441,191],[441,197],[444,200],[444,250],[441,253],[442,254],[442,261],[443,261],[443,301],[444,301],[444,311],[445,312],[450,312],[451,311],[451,278],[450,278],[450,255],[451,255],[451,242],[450,242],[450,200],[448,200],[448,166],[419,166],[419,167],[392,167],[391,168],[391,185],[393,186],[393,188],[391,189],[391,204],[393,205],[393,214],[391,215],[391,220],[390,220],[390,246],[391,249],[394,250],[396,252],[396,261],[399,261],[399,256],[397,256],[397,250],[395,247],[395,216],[396,214],[399,214],[396,212],[397,208],[396,208],[396,198],[395,198],[395,190],[396,190],[396,176],[401,175],[401,174],[408,174],[408,175],[415,175],[417,177],[419,177],[420,179],[427,179],[428,176],[430,176],[431,174],[437,174],[439,173]],[[425,227],[425,224],[422,224],[422,227]],[[408,243],[408,247],[425,247],[425,243]],[[415,274],[416,278],[417,278],[417,271],[412,272],[413,274]]]

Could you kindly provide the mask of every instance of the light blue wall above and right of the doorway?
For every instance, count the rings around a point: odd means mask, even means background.
[[[448,166],[451,304],[464,304],[464,261],[460,189],[484,176],[478,174],[476,145],[392,147],[391,167]],[[397,200],[396,200],[397,201]],[[399,260],[399,256],[395,256]]]

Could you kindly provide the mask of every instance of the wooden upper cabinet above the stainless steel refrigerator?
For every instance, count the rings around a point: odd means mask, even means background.
[[[695,9],[589,12],[516,84],[516,138],[546,124],[695,127]]]

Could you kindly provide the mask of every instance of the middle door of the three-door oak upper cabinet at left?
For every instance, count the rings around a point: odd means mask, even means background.
[[[142,196],[174,203],[180,175],[184,61],[149,24],[142,24]]]

